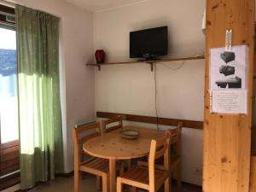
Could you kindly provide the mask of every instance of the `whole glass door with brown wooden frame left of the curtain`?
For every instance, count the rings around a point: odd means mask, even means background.
[[[0,23],[0,190],[20,182],[17,90],[15,26]]]

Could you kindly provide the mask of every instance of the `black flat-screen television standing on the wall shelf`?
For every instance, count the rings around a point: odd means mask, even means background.
[[[155,60],[168,52],[168,27],[130,32],[130,57]]]

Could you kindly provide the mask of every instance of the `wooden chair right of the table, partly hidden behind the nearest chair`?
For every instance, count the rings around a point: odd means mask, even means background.
[[[182,128],[183,123],[179,122],[177,124],[177,128],[168,130],[171,134],[171,142],[170,142],[170,171],[172,172],[175,168],[177,171],[177,191],[180,192],[182,188]],[[159,170],[164,170],[165,167],[163,166],[164,160],[160,158],[156,160],[156,167]],[[137,161],[138,166],[148,166],[148,162],[144,160]],[[170,174],[171,174],[170,172]],[[170,176],[171,177],[171,176]],[[170,184],[170,188],[171,188]]]

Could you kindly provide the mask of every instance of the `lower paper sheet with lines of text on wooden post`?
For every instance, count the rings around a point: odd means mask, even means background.
[[[247,113],[247,90],[212,90],[212,113]]]

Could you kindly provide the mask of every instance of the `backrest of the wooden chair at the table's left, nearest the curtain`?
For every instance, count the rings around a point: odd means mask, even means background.
[[[74,163],[79,164],[82,157],[82,147],[84,142],[92,137],[99,136],[101,134],[101,126],[99,122],[90,123],[86,125],[79,125],[74,127],[73,133],[73,148],[74,148]]]

